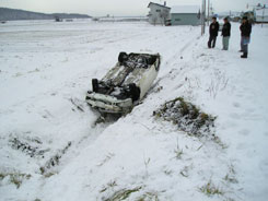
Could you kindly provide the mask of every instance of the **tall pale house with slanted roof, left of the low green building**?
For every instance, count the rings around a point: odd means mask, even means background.
[[[150,12],[148,14],[148,20],[150,24],[164,25],[166,20],[170,19],[171,8],[166,7],[166,2],[164,2],[164,4],[150,2],[148,8],[150,9]]]

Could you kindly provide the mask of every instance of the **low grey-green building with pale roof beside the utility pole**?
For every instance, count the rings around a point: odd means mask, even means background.
[[[200,25],[199,5],[175,5],[171,9],[172,25]]]

